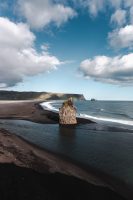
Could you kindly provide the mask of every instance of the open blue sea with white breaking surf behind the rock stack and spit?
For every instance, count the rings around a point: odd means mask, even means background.
[[[63,101],[44,102],[48,110],[58,112]],[[99,125],[133,130],[133,101],[74,101],[77,116],[91,119]]]

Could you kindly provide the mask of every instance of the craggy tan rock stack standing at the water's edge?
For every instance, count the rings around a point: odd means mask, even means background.
[[[76,108],[73,105],[72,97],[64,101],[62,107],[59,109],[59,124],[60,125],[77,124]]]

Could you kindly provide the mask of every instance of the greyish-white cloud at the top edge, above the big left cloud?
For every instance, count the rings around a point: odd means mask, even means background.
[[[19,0],[19,11],[32,28],[43,28],[50,23],[56,26],[76,16],[76,12],[63,4],[52,0]]]

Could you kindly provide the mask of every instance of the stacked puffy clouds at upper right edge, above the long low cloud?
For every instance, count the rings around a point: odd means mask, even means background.
[[[108,34],[109,44],[111,47],[116,49],[132,49],[133,0],[121,0],[121,7],[123,7],[124,9],[119,8],[111,16],[111,22],[115,23],[117,25],[117,28]]]

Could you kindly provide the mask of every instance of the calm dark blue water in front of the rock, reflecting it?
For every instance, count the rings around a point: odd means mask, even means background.
[[[132,130],[99,124],[65,128],[23,120],[0,120],[0,128],[70,159],[86,170],[112,177],[127,188],[133,187]]]

